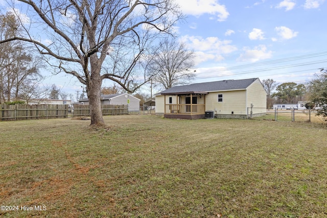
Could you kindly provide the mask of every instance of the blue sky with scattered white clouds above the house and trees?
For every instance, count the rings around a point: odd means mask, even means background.
[[[178,40],[196,54],[192,83],[259,78],[299,84],[312,80],[319,68],[327,68],[325,0],[177,3],[186,15],[176,26]],[[3,0],[0,7],[6,8]],[[73,76],[64,73],[44,83],[73,94],[83,89]],[[111,84],[105,81],[103,85]],[[149,93],[149,87],[141,91]]]

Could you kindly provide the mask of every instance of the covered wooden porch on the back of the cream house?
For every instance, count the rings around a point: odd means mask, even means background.
[[[205,117],[207,92],[165,93],[165,118],[200,119]]]

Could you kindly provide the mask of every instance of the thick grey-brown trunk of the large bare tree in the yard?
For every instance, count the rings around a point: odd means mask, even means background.
[[[92,72],[90,75],[90,80],[86,81],[86,92],[90,107],[91,126],[104,126],[100,100],[102,84],[100,69],[100,67],[97,68],[97,63],[91,64]]]

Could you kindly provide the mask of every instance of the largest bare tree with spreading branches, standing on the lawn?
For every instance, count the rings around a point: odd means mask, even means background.
[[[129,92],[146,83],[149,76],[135,70],[139,58],[158,34],[171,33],[171,27],[181,18],[173,0],[19,2],[28,6],[28,10],[19,11],[33,20],[26,26],[20,19],[25,35],[0,43],[31,42],[57,72],[64,71],[85,84],[91,125],[101,126],[102,81],[110,79]],[[48,38],[33,35],[36,28]]]

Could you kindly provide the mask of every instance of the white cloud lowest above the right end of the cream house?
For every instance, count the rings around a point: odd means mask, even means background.
[[[238,61],[256,62],[272,57],[272,51],[268,51],[266,45],[255,46],[254,49],[244,47],[244,53],[237,59]]]

